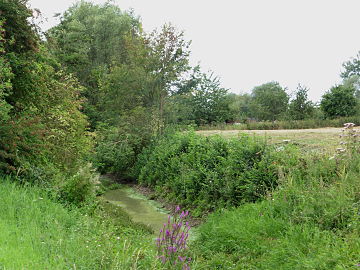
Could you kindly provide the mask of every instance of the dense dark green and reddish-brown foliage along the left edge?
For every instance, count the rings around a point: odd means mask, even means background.
[[[72,202],[83,203],[94,188],[91,170],[84,166],[91,141],[80,112],[83,89],[41,44],[26,4],[0,3],[0,172],[56,190],[63,198],[76,193]],[[82,170],[80,181],[82,167],[87,171]],[[82,184],[65,196],[75,179]]]

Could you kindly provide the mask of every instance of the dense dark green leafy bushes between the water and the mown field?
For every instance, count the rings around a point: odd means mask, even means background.
[[[254,202],[273,190],[288,148],[276,151],[248,136],[226,140],[179,132],[145,149],[135,175],[141,184],[201,214]]]

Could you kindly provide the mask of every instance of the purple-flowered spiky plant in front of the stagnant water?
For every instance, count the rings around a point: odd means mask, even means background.
[[[186,256],[187,240],[191,226],[187,221],[189,212],[180,212],[177,206],[173,217],[169,216],[156,239],[158,258],[170,269],[190,269],[191,258]]]

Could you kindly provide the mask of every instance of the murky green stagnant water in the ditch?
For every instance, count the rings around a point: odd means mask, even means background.
[[[104,194],[109,202],[122,207],[135,222],[150,226],[155,234],[167,221],[168,213],[155,201],[148,200],[130,187],[110,190]]]

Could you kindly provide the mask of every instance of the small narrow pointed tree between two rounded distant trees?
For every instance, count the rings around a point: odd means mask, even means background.
[[[308,100],[309,89],[301,84],[298,85],[295,98],[289,104],[289,116],[293,120],[303,120],[311,117],[314,104]]]

